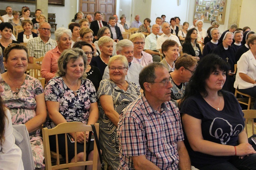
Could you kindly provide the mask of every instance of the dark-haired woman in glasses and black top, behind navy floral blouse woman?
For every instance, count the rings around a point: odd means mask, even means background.
[[[93,82],[93,85],[97,91],[99,88],[100,81],[102,80],[102,76],[100,73],[100,69],[98,67],[90,65],[91,59],[93,58],[93,55],[94,55],[93,46],[91,46],[91,44],[85,41],[80,41],[80,42],[76,42],[73,48],[82,49],[85,55],[87,56],[87,65],[85,69],[85,73],[87,74],[86,78],[91,80],[91,82]]]

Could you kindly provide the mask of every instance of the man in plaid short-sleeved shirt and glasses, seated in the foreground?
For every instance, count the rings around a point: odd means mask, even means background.
[[[191,169],[180,113],[170,102],[170,81],[168,70],[158,62],[140,72],[144,93],[119,118],[118,169]]]

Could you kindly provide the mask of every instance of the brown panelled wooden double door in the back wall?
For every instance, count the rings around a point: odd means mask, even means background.
[[[116,0],[79,0],[79,11],[92,16],[99,11],[103,13],[103,20],[108,22],[109,17],[116,13]]]

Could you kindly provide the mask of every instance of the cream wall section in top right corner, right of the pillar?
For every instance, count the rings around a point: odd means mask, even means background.
[[[243,0],[239,22],[240,28],[248,26],[252,31],[256,31],[256,22],[255,19],[253,19],[256,15],[255,6],[255,0]]]

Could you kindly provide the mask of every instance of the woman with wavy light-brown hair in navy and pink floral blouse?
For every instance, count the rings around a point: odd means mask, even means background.
[[[44,124],[45,127],[51,129],[65,122],[82,122],[91,125],[98,121],[99,110],[96,90],[93,83],[86,79],[86,62],[87,58],[82,49],[66,49],[61,53],[58,59],[57,76],[52,78],[45,87],[45,101],[49,114]],[[69,135],[75,138],[74,133]],[[78,132],[76,138],[79,142],[77,143],[77,161],[82,161],[84,156],[83,143],[87,142],[88,134],[84,138],[84,132]],[[56,152],[55,140],[55,136],[50,136],[50,148]],[[58,135],[58,140],[59,153],[66,157],[65,135]],[[75,145],[70,140],[67,144],[68,159],[72,163],[75,161]],[[88,160],[93,160],[93,152],[89,153]],[[84,167],[79,168],[84,169]]]

